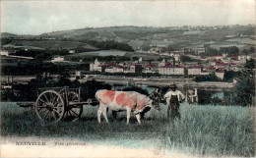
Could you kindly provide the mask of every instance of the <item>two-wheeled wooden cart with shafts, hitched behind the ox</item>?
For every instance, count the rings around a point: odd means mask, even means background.
[[[32,107],[40,121],[54,124],[61,120],[76,121],[83,113],[83,105],[96,105],[95,99],[81,101],[81,89],[44,87],[37,89],[36,101],[19,102],[20,107]]]

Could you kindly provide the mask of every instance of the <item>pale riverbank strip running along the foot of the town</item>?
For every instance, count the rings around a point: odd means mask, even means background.
[[[15,83],[27,83],[31,79],[35,79],[35,76],[14,76],[9,78]],[[75,78],[70,78],[71,80]],[[234,84],[232,82],[195,82],[193,79],[174,79],[174,78],[131,78],[131,77],[110,77],[110,76],[90,76],[85,79],[80,79],[80,82],[86,82],[87,80],[96,79],[98,81],[105,81],[107,83],[120,83],[120,84],[144,84],[149,86],[167,86],[172,82],[175,82],[179,87],[198,88],[202,90],[214,90],[222,91],[231,89]],[[8,77],[1,77],[1,83],[7,83]]]

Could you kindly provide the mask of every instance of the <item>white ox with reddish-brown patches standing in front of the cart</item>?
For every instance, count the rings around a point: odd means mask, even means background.
[[[140,94],[136,91],[113,91],[113,90],[97,90],[96,99],[99,102],[99,107],[97,110],[97,121],[100,123],[100,116],[103,114],[106,123],[108,119],[106,116],[107,108],[112,111],[125,111],[127,112],[127,124],[131,117],[131,112],[136,116],[139,124],[141,124],[140,113],[147,107],[154,107],[159,110],[159,103],[153,105],[155,102],[155,93],[153,95],[147,96]]]

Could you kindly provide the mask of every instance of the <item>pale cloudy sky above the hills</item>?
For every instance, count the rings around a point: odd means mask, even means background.
[[[44,32],[103,26],[255,24],[255,0],[1,0],[1,32]]]

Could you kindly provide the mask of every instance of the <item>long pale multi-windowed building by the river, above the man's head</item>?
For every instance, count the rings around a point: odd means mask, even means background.
[[[184,66],[163,66],[159,68],[160,75],[185,75]]]

